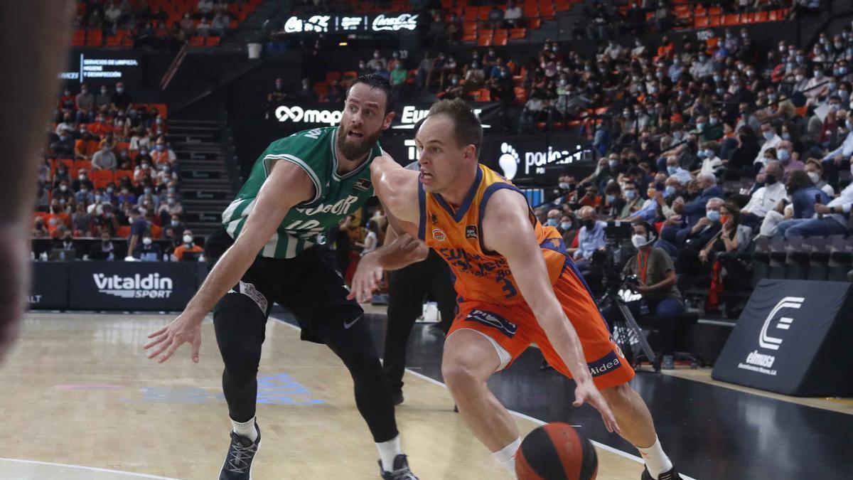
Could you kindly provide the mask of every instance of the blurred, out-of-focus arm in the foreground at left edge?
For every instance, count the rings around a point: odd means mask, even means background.
[[[0,141],[0,359],[11,345],[30,289],[30,228],[44,122],[67,61],[73,2],[0,2],[0,104],[13,112]]]

